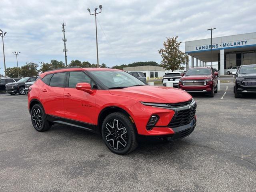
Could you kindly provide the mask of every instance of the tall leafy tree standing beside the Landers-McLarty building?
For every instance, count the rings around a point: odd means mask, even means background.
[[[164,48],[158,50],[158,53],[162,57],[161,66],[165,70],[183,70],[181,65],[186,63],[188,56],[180,50],[180,44],[182,42],[177,41],[178,36],[167,38],[164,41]]]

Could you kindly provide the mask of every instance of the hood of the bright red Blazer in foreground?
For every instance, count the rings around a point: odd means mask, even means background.
[[[132,86],[124,89],[109,90],[110,94],[130,97],[141,102],[178,103],[192,98],[187,92],[162,86]]]

